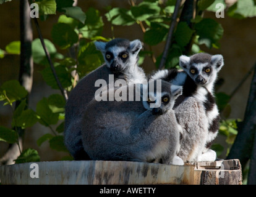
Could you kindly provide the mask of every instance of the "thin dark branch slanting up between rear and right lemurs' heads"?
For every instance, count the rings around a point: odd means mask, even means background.
[[[166,44],[164,46],[164,51],[163,51],[163,56],[161,58],[161,62],[160,62],[160,65],[159,65],[159,69],[163,69],[164,65],[166,63],[169,47],[171,46],[171,38],[173,37],[173,31],[174,31],[174,28],[176,26],[177,14],[179,12],[179,7],[180,6],[181,6],[181,0],[177,0],[176,5],[175,5],[175,9],[174,9],[174,12],[173,12],[173,17],[172,17],[172,20],[171,20],[171,25],[170,25],[169,32],[168,32],[168,38],[166,40]]]

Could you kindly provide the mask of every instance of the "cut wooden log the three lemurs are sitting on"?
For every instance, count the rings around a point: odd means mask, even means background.
[[[3,185],[242,184],[242,172],[238,159],[184,166],[130,161],[45,161],[0,166],[0,182]]]

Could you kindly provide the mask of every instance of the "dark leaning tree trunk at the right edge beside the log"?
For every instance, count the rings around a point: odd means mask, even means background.
[[[231,148],[231,151],[227,159],[239,159],[244,169],[249,159],[250,173],[249,177],[252,178],[252,174],[255,174],[256,166],[256,63],[254,66],[254,76],[250,85],[249,98],[247,100],[247,107],[245,110],[244,121],[238,126],[238,134],[236,140]],[[254,148],[253,148],[254,147]],[[251,179],[252,180],[252,179]],[[254,177],[254,183],[256,179]]]

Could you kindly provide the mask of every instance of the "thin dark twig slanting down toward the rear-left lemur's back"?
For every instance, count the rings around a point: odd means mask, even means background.
[[[34,22],[35,22],[35,26],[36,26],[36,30],[38,32],[38,36],[39,36],[39,39],[41,41],[41,44],[43,46],[43,50],[45,50],[45,55],[46,55],[46,58],[49,62],[49,65],[50,65],[50,68],[51,68],[51,71],[53,72],[53,76],[54,76],[54,79],[56,80],[58,86],[59,86],[59,89],[61,90],[61,94],[64,96],[65,100],[67,101],[67,91],[62,87],[61,85],[61,82],[59,81],[59,78],[56,74],[56,70],[53,66],[53,62],[51,61],[51,57],[49,55],[49,52],[48,50],[46,49],[46,46],[45,46],[45,41],[43,39],[43,36],[41,34],[41,30],[40,30],[40,27],[39,27],[39,24],[38,24],[38,21],[37,21],[37,18],[33,18],[34,19]]]

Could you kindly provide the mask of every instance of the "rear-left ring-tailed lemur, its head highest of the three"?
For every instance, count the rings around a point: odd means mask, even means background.
[[[64,143],[75,160],[90,159],[83,149],[80,121],[88,103],[95,97],[95,91],[99,89],[95,87],[95,82],[103,79],[109,84],[109,74],[114,74],[114,81],[124,79],[127,83],[147,82],[144,71],[137,65],[138,54],[142,49],[138,39],[129,41],[116,38],[109,42],[95,42],[95,46],[103,54],[105,64],[78,82],[66,104]]]

